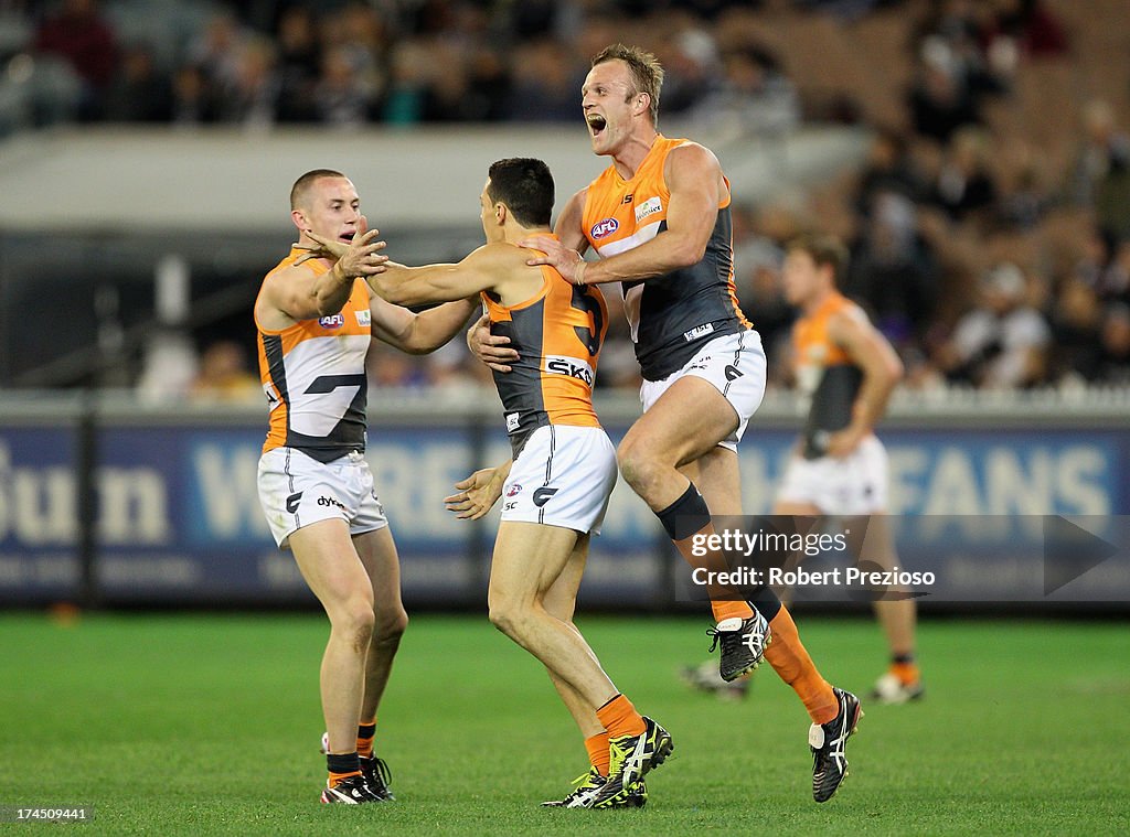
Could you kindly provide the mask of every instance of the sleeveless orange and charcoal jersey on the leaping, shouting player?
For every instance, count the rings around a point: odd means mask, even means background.
[[[667,156],[686,142],[659,136],[631,180],[609,166],[589,184],[581,223],[589,244],[602,259],[646,244],[667,229],[671,193],[663,166]],[[647,381],[660,381],[683,368],[714,338],[751,328],[733,287],[729,192],[718,210],[699,262],[646,281],[624,282],[624,308]]]

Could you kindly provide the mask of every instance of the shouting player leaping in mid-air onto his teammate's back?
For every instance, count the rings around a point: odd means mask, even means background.
[[[551,264],[576,287],[623,282],[644,415],[620,443],[620,472],[689,563],[724,568],[721,555],[695,558],[690,547],[713,531],[711,513],[741,514],[737,446],[764,394],[765,354],[734,296],[730,183],[709,149],[658,132],[662,81],[638,47],[616,44],[593,59],[582,110],[592,150],[612,163],[565,204],[559,239],[527,244],[545,253],[531,264]],[[582,259],[590,246],[600,261]],[[486,352],[481,337],[475,342]],[[754,603],[710,592],[722,677],[770,661],[812,721],[814,799],[831,799],[859,700],[820,677],[772,590]]]

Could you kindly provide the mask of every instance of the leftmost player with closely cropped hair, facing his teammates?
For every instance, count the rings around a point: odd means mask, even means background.
[[[321,668],[329,778],[322,802],[391,800],[373,755],[376,709],[408,622],[400,567],[365,462],[365,355],[376,338],[412,354],[446,343],[475,309],[457,302],[423,314],[375,296],[367,279],[388,256],[366,230],[353,183],[315,169],[290,191],[298,243],[255,299],[259,368],[270,428],[259,498],[280,548],[289,548],[330,619]],[[341,243],[312,258],[311,237]]]

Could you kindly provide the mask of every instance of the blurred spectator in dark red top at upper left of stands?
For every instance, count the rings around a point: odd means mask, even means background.
[[[82,81],[79,117],[98,119],[118,67],[114,30],[97,0],[63,0],[35,35],[37,52],[64,59]]]

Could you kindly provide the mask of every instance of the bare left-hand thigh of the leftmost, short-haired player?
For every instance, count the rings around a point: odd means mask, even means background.
[[[358,596],[372,601],[368,574],[344,520],[332,517],[297,529],[289,543],[303,578],[331,618]]]

